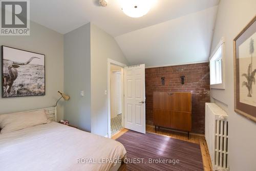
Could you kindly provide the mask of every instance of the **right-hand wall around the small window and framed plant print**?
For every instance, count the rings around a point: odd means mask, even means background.
[[[256,14],[255,0],[222,0],[219,4],[211,51],[221,37],[225,37],[226,90],[211,90],[229,114],[229,165],[230,170],[256,170],[256,123],[234,112],[233,39]]]

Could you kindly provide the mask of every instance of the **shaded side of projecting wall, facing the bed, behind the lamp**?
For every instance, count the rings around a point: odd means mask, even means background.
[[[91,131],[91,45],[90,23],[64,35],[65,119],[80,129]],[[84,96],[80,96],[84,90]]]

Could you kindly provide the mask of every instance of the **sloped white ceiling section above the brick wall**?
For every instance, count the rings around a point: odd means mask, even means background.
[[[217,7],[115,37],[131,65],[208,61]]]

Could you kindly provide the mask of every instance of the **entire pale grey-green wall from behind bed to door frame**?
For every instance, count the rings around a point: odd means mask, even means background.
[[[62,35],[31,22],[30,36],[0,36],[0,45],[46,55],[46,96],[0,98],[0,114],[53,106],[59,90],[71,98],[59,102],[58,120],[67,119],[98,135],[108,134],[108,99],[104,95],[108,58],[128,64],[111,35],[90,23]]]

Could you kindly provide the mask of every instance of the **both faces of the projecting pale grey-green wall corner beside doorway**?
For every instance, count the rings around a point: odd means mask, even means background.
[[[64,36],[65,119],[80,129],[108,134],[108,58],[127,64],[116,40],[93,24]],[[85,91],[84,97],[79,95]]]

